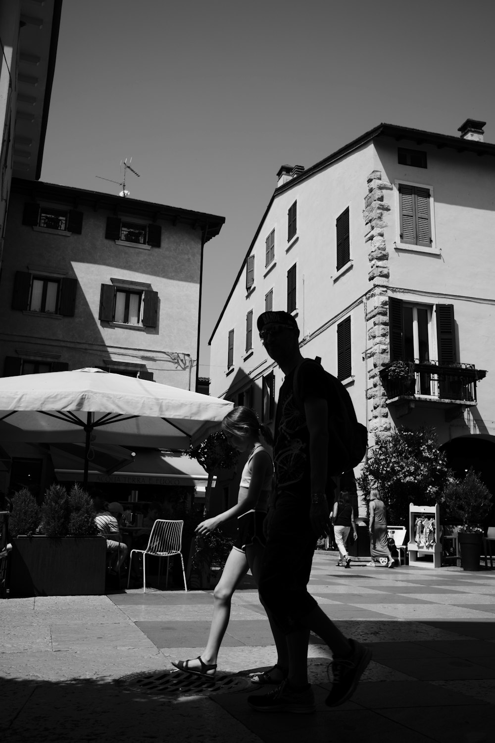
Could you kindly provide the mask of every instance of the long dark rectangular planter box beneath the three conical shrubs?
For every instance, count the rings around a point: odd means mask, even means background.
[[[105,594],[107,543],[101,536],[18,536],[10,554],[10,597]]]

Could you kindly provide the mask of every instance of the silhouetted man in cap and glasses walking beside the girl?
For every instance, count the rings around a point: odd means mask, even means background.
[[[327,477],[332,400],[327,399],[325,372],[318,363],[302,363],[298,324],[289,313],[264,312],[258,317],[258,331],[267,353],[285,374],[275,418],[276,487],[266,517],[259,591],[263,605],[286,634],[289,669],[281,686],[250,696],[248,704],[259,712],[311,713],[315,698],[307,677],[309,632],[319,635],[332,651],[329,707],[353,695],[371,652],[344,637],[306,588],[318,536],[330,533],[327,496],[332,498],[335,489]],[[335,471],[335,463],[330,465]]]

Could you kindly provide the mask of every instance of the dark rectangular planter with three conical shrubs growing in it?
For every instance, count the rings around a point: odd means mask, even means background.
[[[106,541],[97,535],[94,506],[74,485],[51,485],[41,509],[29,490],[13,496],[10,595],[105,593]]]

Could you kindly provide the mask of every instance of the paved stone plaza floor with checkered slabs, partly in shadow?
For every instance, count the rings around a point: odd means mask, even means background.
[[[363,563],[344,570],[335,562],[315,554],[310,590],[346,635],[373,650],[341,707],[324,704],[331,656],[313,637],[317,712],[249,709],[248,672],[275,662],[249,578],[235,594],[210,688],[171,666],[203,649],[210,591],[10,599],[0,601],[2,743],[491,743],[495,571]]]

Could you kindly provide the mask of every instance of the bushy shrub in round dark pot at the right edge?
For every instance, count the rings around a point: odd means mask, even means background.
[[[465,478],[449,478],[442,494],[442,504],[446,516],[462,521],[458,527],[462,567],[479,570],[483,545],[481,522],[492,506],[490,490],[471,467]]]

